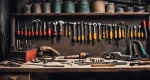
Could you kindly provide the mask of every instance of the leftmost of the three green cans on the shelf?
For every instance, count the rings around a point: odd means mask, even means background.
[[[53,0],[52,1],[52,13],[61,13],[62,12],[62,1]]]

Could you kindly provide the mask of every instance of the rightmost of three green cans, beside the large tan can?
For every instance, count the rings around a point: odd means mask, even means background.
[[[77,2],[77,12],[79,13],[89,13],[90,3],[89,0],[80,0]]]

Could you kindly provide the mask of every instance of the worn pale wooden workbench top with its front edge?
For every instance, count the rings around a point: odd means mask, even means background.
[[[125,62],[125,61],[121,61]],[[132,71],[150,71],[150,65],[145,66],[129,66],[116,65],[114,67],[91,67],[90,65],[78,66],[77,64],[64,64],[65,67],[43,67],[37,65],[27,65],[31,62],[23,64],[21,67],[3,67],[0,66],[0,72],[132,72]],[[32,63],[33,64],[33,63]],[[35,63],[42,64],[42,63]],[[49,65],[59,65],[58,62],[49,62]]]

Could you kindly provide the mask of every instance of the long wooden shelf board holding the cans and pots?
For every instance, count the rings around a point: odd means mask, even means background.
[[[149,15],[148,12],[144,13],[13,13],[12,16],[143,16]]]

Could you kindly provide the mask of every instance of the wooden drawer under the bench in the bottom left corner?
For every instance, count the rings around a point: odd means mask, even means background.
[[[30,80],[30,74],[0,73],[0,80]]]

